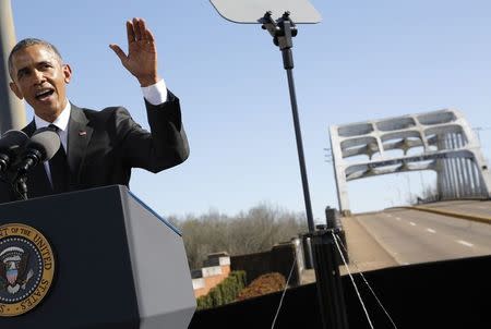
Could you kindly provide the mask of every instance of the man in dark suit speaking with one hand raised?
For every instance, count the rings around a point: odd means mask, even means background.
[[[127,34],[128,54],[117,45],[109,47],[140,82],[151,132],[135,123],[124,108],[94,111],[70,103],[65,94],[70,65],[49,42],[25,39],[11,51],[10,87],[35,113],[23,131],[31,136],[48,125],[56,130],[61,146],[53,159],[63,158],[62,163],[68,166],[67,174],[53,167],[55,160],[35,167],[27,175],[28,197],[128,185],[133,167],[158,172],[188,158],[179,100],[158,76],[154,36],[141,19],[127,22]],[[0,182],[0,203],[19,199],[14,190],[10,183]]]

